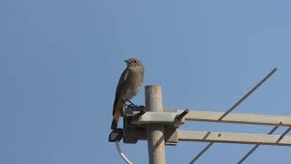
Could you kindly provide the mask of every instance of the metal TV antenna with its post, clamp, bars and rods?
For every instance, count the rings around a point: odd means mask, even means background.
[[[251,88],[244,97],[241,97],[226,112],[205,110],[175,109],[163,107],[162,91],[160,86],[146,86],[146,107],[126,107],[124,112],[124,127],[113,130],[109,141],[115,142],[119,154],[122,152],[117,143],[123,138],[124,143],[135,144],[138,140],[147,140],[148,158],[150,164],[165,164],[165,145],[175,146],[178,141],[208,142],[194,159],[197,159],[210,149],[216,142],[253,144],[237,164],[243,163],[260,145],[291,146],[291,137],[286,134],[291,130],[291,117],[261,114],[233,113],[247,97],[261,87],[266,80],[274,75],[276,68]],[[185,121],[203,121],[216,123],[251,124],[273,126],[267,134],[229,133],[211,131],[178,130]],[[273,135],[277,128],[288,127],[282,135]],[[123,154],[123,153],[122,153]],[[130,161],[121,155],[126,163]],[[127,161],[126,161],[127,160]]]

